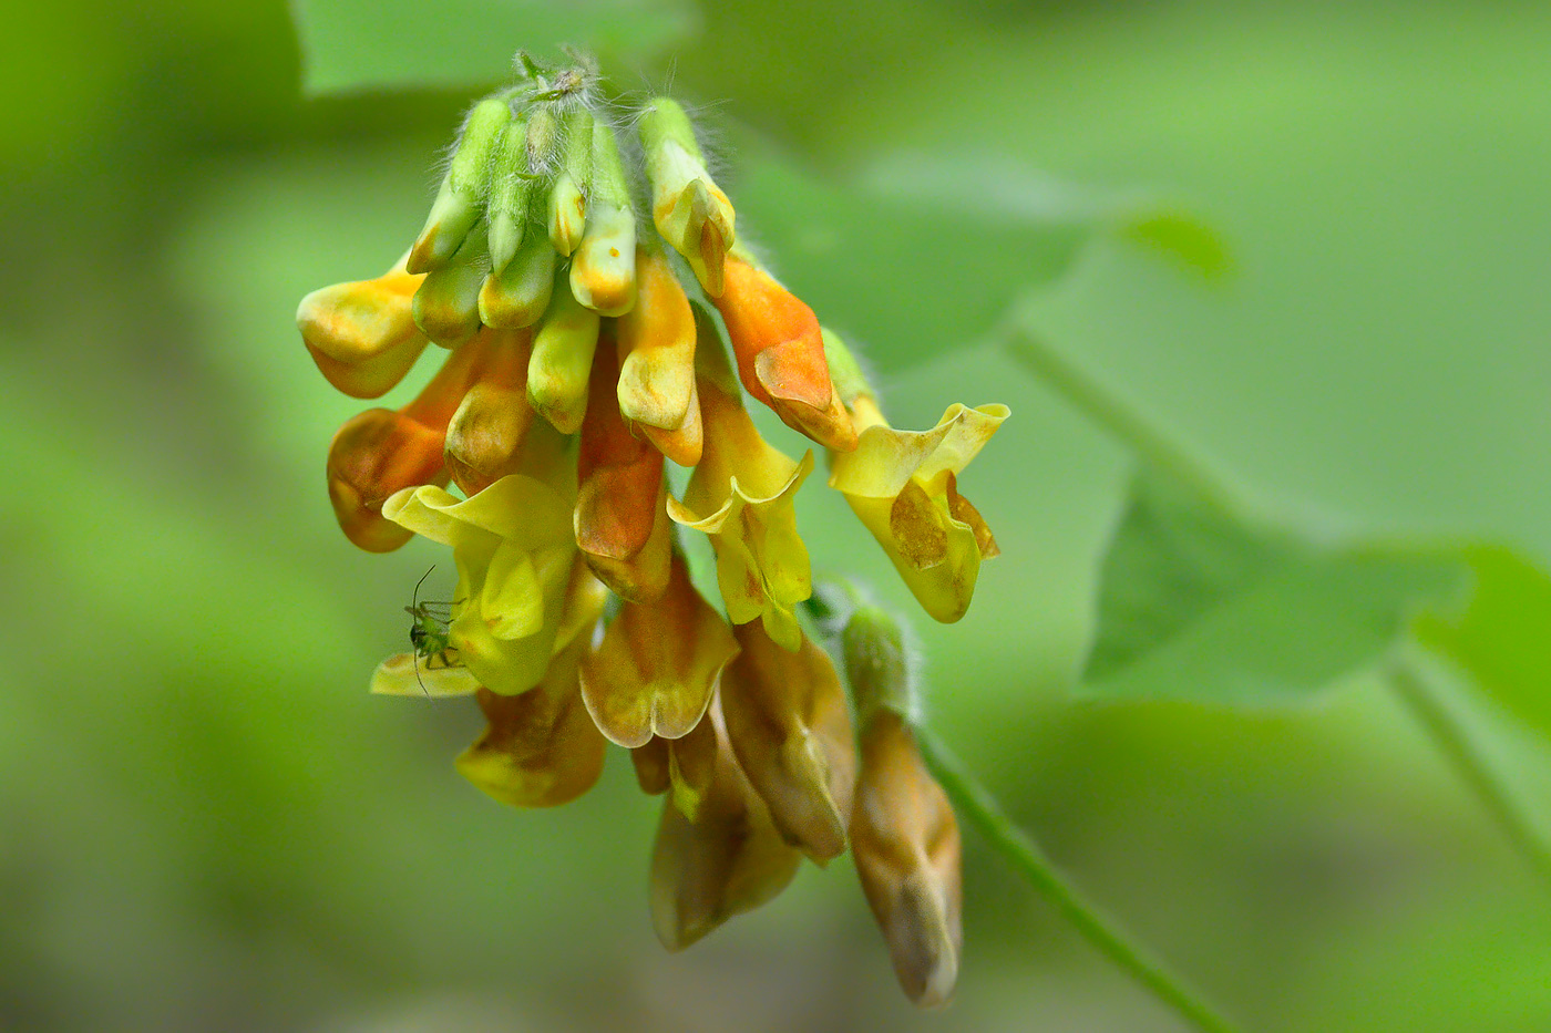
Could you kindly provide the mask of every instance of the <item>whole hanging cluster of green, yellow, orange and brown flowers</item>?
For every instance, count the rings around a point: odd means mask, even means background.
[[[422,535],[458,569],[372,689],[475,696],[489,726],[458,768],[515,807],[571,800],[606,743],[630,749],[665,796],[651,912],[673,949],[850,845],[907,993],[946,1000],[957,830],[883,687],[907,684],[903,651],[884,662],[887,636],[861,648],[847,630],[842,678],[816,642],[794,509],[813,451],[768,444],[744,396],[825,448],[830,485],[945,622],[996,555],[957,476],[1007,409],[892,428],[841,338],[738,239],[684,110],[655,98],[614,118],[586,62],[523,57],[518,85],[470,110],[405,257],[313,292],[298,324],[358,399],[448,349],[411,402],[329,448],[351,541]],[[692,468],[681,496],[667,462]],[[690,580],[698,534],[720,608]]]

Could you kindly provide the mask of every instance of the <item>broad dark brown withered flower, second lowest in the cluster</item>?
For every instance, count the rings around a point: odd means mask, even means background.
[[[693,819],[664,802],[651,852],[651,924],[670,951],[780,893],[802,859],[738,771],[715,706],[701,726],[717,737],[713,777]]]

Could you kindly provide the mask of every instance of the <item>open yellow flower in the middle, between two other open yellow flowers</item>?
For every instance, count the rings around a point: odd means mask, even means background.
[[[768,445],[735,391],[701,378],[706,451],[684,501],[668,496],[668,515],[710,537],[727,617],[760,619],[772,639],[796,650],[802,631],[793,606],[813,594],[813,583],[794,496],[813,470],[813,453],[793,462]]]

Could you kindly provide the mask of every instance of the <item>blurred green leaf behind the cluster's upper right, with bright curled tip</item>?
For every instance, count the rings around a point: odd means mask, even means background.
[[[879,372],[983,335],[1095,233],[1166,248],[1204,273],[1227,261],[1199,222],[1005,163],[910,157],[827,183],[771,157],[743,160],[740,234]]]

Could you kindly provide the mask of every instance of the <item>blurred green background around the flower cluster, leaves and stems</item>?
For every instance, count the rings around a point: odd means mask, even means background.
[[[1540,3],[718,0],[613,71],[672,67],[822,175],[993,154],[1177,200],[1236,275],[1101,237],[1044,306],[1066,354],[1266,496],[1545,563],[1546,53]],[[472,704],[366,693],[442,557],[335,527],[361,403],[293,312],[403,250],[473,92],[304,99],[299,70],[279,0],[11,5],[0,34],[0,1028],[1182,1028],[972,833],[945,1013],[896,991],[847,859],[665,954],[622,751],[516,813],[451,768]],[[929,290],[972,245],[865,261]],[[1551,1028],[1551,897],[1374,679],[1069,698],[1124,456],[988,329],[887,385],[901,425],[1014,411],[962,481],[1003,555],[962,624],[918,622],[941,737],[1245,1028]],[[803,495],[816,565],[906,608]],[[1539,789],[1539,760],[1504,763]]]

